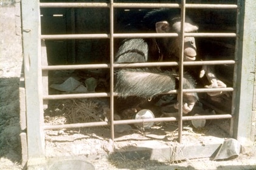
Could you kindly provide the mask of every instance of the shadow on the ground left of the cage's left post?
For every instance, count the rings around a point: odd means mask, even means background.
[[[0,157],[21,160],[19,78],[0,79]]]

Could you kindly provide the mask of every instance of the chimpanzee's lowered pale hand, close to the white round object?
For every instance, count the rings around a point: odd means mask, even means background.
[[[182,113],[189,113],[192,111],[197,99],[195,96],[191,94],[183,94],[183,106],[182,106]],[[179,108],[179,103],[177,102],[175,108]]]

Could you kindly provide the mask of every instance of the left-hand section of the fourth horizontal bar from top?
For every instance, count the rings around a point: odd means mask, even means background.
[[[52,94],[44,95],[43,100],[58,100],[58,99],[81,99],[91,97],[109,97],[109,93],[80,93],[80,94]]]

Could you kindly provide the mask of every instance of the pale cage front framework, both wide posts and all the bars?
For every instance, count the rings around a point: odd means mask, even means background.
[[[110,17],[110,33],[109,34],[65,34],[65,35],[41,35],[41,25],[40,25],[40,8],[54,8],[54,7],[106,7],[109,8],[109,17]],[[235,74],[234,74],[234,88],[226,88],[224,91],[233,91],[233,104],[232,114],[226,114],[223,116],[198,116],[195,119],[231,119],[230,134],[232,137],[237,139],[239,142],[246,144],[251,138],[252,132],[252,105],[253,105],[253,91],[254,91],[254,74],[255,74],[255,18],[254,16],[254,7],[255,4],[253,0],[242,1],[238,0],[238,5],[207,5],[207,4],[186,4],[185,0],[182,0],[181,4],[145,4],[145,3],[116,3],[110,1],[109,3],[41,3],[39,1],[21,1],[21,12],[22,12],[22,46],[23,46],[23,55],[24,55],[24,82],[26,89],[26,128],[23,130],[26,131],[27,137],[27,159],[28,166],[32,165],[34,160],[40,158],[45,158],[44,151],[44,130],[45,129],[58,129],[58,128],[69,128],[70,125],[55,125],[55,126],[44,126],[44,100],[49,99],[72,99],[72,98],[84,98],[84,97],[109,97],[111,100],[111,138],[114,139],[114,125],[119,125],[123,123],[136,123],[141,122],[142,120],[114,120],[113,111],[114,111],[114,96],[117,94],[114,93],[114,79],[111,76],[110,84],[111,90],[109,93],[95,93],[95,94],[66,94],[66,95],[47,95],[43,91],[42,80],[46,78],[47,71],[57,70],[57,69],[82,69],[82,68],[109,68],[110,74],[114,74],[114,68],[119,67],[139,67],[136,64],[122,65],[114,64],[114,38],[127,38],[127,37],[147,37],[148,34],[116,34],[114,33],[114,8],[181,8],[183,16],[182,23],[184,23],[184,14],[185,8],[237,8],[237,33],[184,33],[184,30],[181,33],[181,38],[184,39],[184,36],[224,36],[224,37],[236,37],[236,53],[235,60],[226,60],[226,64],[235,65]],[[178,34],[168,33],[168,34],[150,34],[150,36],[178,36]],[[47,66],[43,60],[42,47],[44,46],[43,39],[90,39],[90,38],[108,38],[110,42],[110,63],[109,64],[94,64],[94,65],[60,65],[60,66]],[[32,43],[33,42],[33,43]],[[183,42],[183,41],[182,41]],[[182,53],[181,53],[182,56]],[[189,65],[187,62],[183,62],[182,57],[179,61],[181,65]],[[203,65],[207,62],[194,62],[194,64]],[[210,62],[208,64],[216,64]],[[223,64],[223,61],[221,61]],[[144,66],[153,67],[159,65],[178,65],[177,62],[170,63],[152,63],[152,64],[142,64]],[[193,65],[193,64],[192,64]],[[180,73],[182,74],[183,67],[180,67]],[[182,87],[182,81],[180,83]],[[198,89],[197,89],[198,90]],[[223,91],[223,89],[215,89],[214,91]],[[179,88],[178,91],[174,90],[170,93],[178,92],[182,96],[185,90]],[[187,90],[189,91],[189,90]],[[196,90],[193,90],[196,91]],[[200,91],[211,91],[207,89],[199,89]],[[181,101],[182,102],[182,97]],[[245,102],[246,101],[246,102]],[[244,114],[246,113],[246,114]],[[156,118],[155,120],[144,120],[144,122],[161,122],[161,121],[175,121],[176,119],[162,119]],[[182,117],[181,108],[179,108],[179,140],[182,137]],[[189,120],[189,119],[188,119]],[[249,123],[244,123],[249,122]],[[71,128],[74,127],[85,127],[85,126],[101,126],[109,125],[106,122],[98,123],[75,123],[71,125]],[[31,161],[33,160],[33,161]]]

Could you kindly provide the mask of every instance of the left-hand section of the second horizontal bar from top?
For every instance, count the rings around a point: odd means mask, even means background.
[[[43,34],[41,39],[102,39],[109,38],[109,34]]]

